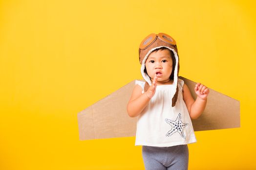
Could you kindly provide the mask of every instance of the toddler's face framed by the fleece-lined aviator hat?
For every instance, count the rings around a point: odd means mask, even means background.
[[[172,71],[171,51],[164,49],[151,52],[146,60],[146,70],[151,81],[157,73],[157,83],[168,83]]]

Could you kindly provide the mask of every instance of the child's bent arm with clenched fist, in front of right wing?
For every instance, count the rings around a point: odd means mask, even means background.
[[[207,102],[207,96],[209,94],[209,89],[200,83],[195,85],[194,91],[197,95],[195,101],[192,98],[188,86],[184,83],[183,100],[187,105],[191,119],[197,119],[203,113]]]

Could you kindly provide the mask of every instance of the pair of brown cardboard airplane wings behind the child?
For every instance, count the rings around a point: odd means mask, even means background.
[[[196,83],[181,76],[179,78],[184,80],[196,99],[193,90]],[[80,140],[135,136],[137,118],[130,118],[127,113],[134,86],[135,80],[79,112]],[[194,131],[240,127],[240,102],[209,89],[204,112],[199,118],[192,119]]]

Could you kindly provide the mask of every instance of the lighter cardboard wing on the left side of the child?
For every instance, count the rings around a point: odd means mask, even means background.
[[[128,137],[136,134],[137,118],[130,118],[127,103],[135,81],[78,113],[81,140]]]

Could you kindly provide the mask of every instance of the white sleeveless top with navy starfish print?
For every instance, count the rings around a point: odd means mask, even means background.
[[[135,85],[140,85],[144,93],[145,82],[136,80]],[[183,101],[183,85],[184,81],[178,79],[179,93],[174,107],[171,107],[173,85],[156,86],[154,96],[137,117],[135,146],[169,147],[196,142],[189,111]]]

